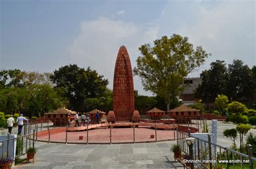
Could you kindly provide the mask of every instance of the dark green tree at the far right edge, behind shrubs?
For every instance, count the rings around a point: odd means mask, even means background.
[[[241,60],[233,60],[233,64],[228,65],[228,74],[227,93],[231,100],[252,100],[256,87],[252,69]]]

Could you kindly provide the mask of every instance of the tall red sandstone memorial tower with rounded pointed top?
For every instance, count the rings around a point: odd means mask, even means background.
[[[113,110],[117,121],[131,121],[134,111],[132,66],[125,46],[119,48],[114,67]]]

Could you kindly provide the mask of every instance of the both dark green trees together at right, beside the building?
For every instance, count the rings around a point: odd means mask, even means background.
[[[233,60],[232,65],[216,60],[211,63],[211,68],[200,74],[201,84],[196,90],[196,97],[203,102],[214,102],[217,95],[224,94],[231,101],[252,101],[256,79],[253,71],[241,60]]]

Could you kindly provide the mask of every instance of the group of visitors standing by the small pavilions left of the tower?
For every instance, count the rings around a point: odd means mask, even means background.
[[[71,121],[70,121],[70,114],[68,115],[68,121],[69,121],[69,126],[71,124]],[[90,118],[90,113],[87,112],[87,114],[82,114],[80,116],[80,125],[84,125],[85,126],[85,122],[86,122],[86,125],[90,125],[90,121],[91,121],[91,118]],[[96,123],[99,124],[99,112],[96,113]],[[75,115],[75,126],[80,126],[79,125],[79,112],[76,113]]]

